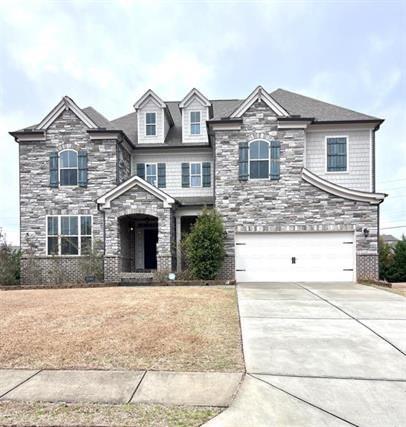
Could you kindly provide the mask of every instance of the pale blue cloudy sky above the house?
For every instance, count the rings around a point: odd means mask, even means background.
[[[149,88],[180,100],[284,88],[385,119],[382,232],[406,233],[406,2],[0,0],[0,227],[18,243],[18,145],[62,96],[109,119]],[[391,228],[403,226],[403,228]]]

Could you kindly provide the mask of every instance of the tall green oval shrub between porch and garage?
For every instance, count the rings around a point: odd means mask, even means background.
[[[212,280],[220,271],[224,256],[224,224],[214,209],[204,209],[182,246],[187,269],[196,279]]]

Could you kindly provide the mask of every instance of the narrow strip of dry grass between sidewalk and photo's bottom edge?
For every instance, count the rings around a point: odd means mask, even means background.
[[[197,427],[219,408],[0,402],[0,425]]]

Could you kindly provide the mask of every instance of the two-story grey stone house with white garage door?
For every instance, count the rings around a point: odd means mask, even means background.
[[[226,228],[222,278],[378,278],[375,132],[383,120],[282,89],[181,101],[148,90],[107,120],[61,102],[19,143],[22,282],[106,281],[180,271],[180,241],[205,206]],[[29,265],[35,263],[35,277]]]

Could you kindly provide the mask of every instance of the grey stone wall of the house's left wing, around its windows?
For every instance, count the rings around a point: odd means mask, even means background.
[[[93,243],[102,251],[103,214],[98,211],[95,200],[116,185],[116,141],[90,141],[86,130],[75,114],[65,110],[47,130],[46,141],[19,144],[23,284],[83,280],[80,257],[47,256],[47,215],[92,215]],[[50,188],[49,154],[52,150],[69,148],[88,152],[88,187]],[[27,243],[27,235],[32,245]]]

